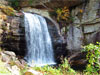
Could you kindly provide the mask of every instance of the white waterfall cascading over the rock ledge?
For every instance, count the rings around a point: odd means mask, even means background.
[[[24,13],[27,52],[25,60],[30,66],[53,65],[54,54],[45,18]]]

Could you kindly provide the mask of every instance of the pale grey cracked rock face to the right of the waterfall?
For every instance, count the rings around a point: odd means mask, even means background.
[[[80,10],[82,10],[82,12],[80,12]],[[87,3],[83,3],[72,9],[71,15],[74,17],[74,21],[72,24],[73,26],[71,28],[69,26],[69,30],[67,32],[67,49],[69,49],[69,51],[79,51],[81,45],[99,41],[99,10],[99,0],[89,0]]]

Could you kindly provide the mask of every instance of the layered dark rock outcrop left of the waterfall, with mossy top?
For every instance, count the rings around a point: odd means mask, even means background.
[[[16,14],[12,7],[0,4],[0,47],[23,55],[25,33],[21,17]]]

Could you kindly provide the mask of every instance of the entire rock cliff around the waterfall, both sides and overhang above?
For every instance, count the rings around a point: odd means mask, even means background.
[[[3,4],[6,5],[7,2]],[[73,23],[67,25],[68,31],[66,32],[65,43],[60,33],[59,24],[50,17],[49,13],[49,9],[64,6],[71,8],[71,15],[74,19]],[[32,2],[20,0],[20,7],[24,12],[36,13],[46,18],[56,58],[67,55],[67,50],[69,52],[80,51],[82,45],[100,41],[100,0],[33,0]],[[1,47],[18,54],[25,53],[23,18],[18,17],[19,15],[8,16],[1,12],[1,9],[0,14],[3,15],[0,15]]]

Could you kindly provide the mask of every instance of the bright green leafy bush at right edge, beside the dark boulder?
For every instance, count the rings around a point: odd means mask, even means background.
[[[88,60],[85,71],[98,74],[97,72],[100,70],[100,43],[84,46],[84,51],[87,52],[86,59]]]

